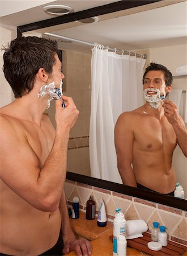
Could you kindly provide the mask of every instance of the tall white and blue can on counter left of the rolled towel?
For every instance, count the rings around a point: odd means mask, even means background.
[[[120,212],[120,208],[116,209],[117,214],[113,221],[113,256],[117,256],[117,237],[122,235],[125,237],[126,233],[126,221],[124,213]]]

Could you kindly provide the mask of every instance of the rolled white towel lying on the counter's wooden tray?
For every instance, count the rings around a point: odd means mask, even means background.
[[[147,223],[144,220],[129,220],[126,221],[126,239],[143,237],[142,233],[148,229]]]

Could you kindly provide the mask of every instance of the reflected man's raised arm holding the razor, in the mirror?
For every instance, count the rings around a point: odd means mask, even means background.
[[[184,120],[180,116],[177,106],[172,101],[163,101],[164,115],[167,117],[168,122],[173,126],[177,136],[177,143],[179,144],[184,155],[187,157],[187,130]]]

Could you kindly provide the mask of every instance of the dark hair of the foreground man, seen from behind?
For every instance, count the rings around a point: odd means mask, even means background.
[[[27,36],[12,40],[3,47],[3,72],[15,98],[28,94],[33,89],[35,77],[40,68],[49,75],[56,63],[57,42],[37,36]]]

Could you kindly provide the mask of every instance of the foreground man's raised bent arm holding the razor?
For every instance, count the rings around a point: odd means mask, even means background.
[[[58,209],[66,178],[69,132],[79,113],[71,98],[63,96],[63,100],[68,104],[65,109],[61,100],[56,101],[56,137],[43,166],[27,134],[5,116],[0,120],[1,179],[25,201],[44,212]]]

